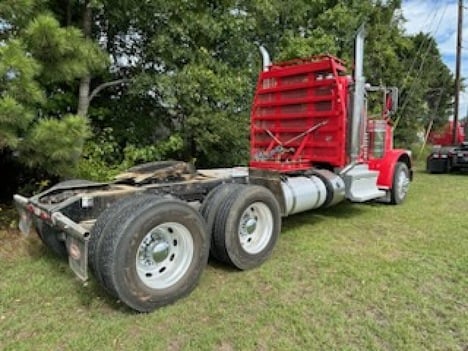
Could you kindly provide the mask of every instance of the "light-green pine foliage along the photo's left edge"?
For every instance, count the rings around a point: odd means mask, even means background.
[[[107,59],[78,28],[61,27],[51,12],[41,11],[44,4],[0,6],[0,149],[27,167],[71,175],[90,126],[73,115],[75,106],[57,101],[78,78],[103,70]]]

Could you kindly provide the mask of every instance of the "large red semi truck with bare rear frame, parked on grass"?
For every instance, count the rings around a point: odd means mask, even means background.
[[[401,203],[412,165],[392,144],[397,91],[365,84],[363,45],[361,30],[354,77],[332,56],[272,64],[263,49],[248,167],[165,161],[111,182],[62,182],[15,195],[20,229],[34,227],[80,279],[91,271],[110,295],[148,312],[189,294],[209,255],[240,270],[262,264],[283,217],[345,200]],[[370,119],[375,92],[382,113]]]

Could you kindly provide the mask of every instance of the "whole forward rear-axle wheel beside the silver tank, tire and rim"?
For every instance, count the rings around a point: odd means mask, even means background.
[[[271,191],[243,185],[230,194],[217,213],[214,250],[240,270],[255,268],[271,255],[280,231],[280,207]]]

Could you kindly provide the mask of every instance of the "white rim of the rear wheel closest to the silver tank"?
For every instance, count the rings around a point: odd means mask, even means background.
[[[273,214],[263,202],[251,204],[241,216],[239,241],[249,254],[262,251],[273,234]]]

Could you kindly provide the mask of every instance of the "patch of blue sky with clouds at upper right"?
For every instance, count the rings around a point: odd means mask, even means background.
[[[468,84],[468,1],[464,1],[461,76]],[[403,0],[405,31],[408,34],[430,33],[437,41],[446,65],[455,75],[457,45],[457,0]],[[459,116],[468,114],[468,87],[460,93]]]

